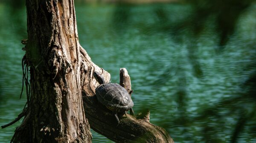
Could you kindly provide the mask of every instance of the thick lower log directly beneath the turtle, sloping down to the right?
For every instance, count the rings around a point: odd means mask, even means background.
[[[174,143],[169,134],[144,118],[127,114],[119,115],[120,123],[115,126],[111,111],[97,102],[94,96],[84,93],[84,109],[90,127],[116,143]],[[120,117],[121,116],[121,117]]]

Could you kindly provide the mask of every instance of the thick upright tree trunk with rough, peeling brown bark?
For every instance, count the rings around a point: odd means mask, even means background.
[[[26,7],[31,92],[12,142],[91,143],[73,0],[26,0]]]

